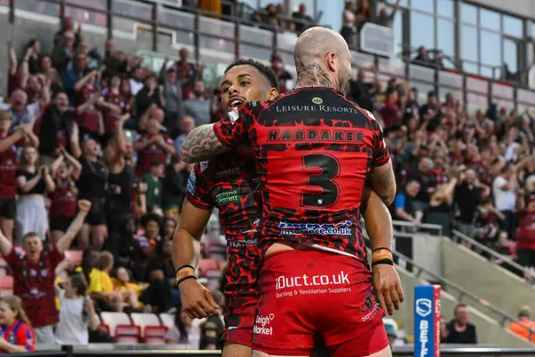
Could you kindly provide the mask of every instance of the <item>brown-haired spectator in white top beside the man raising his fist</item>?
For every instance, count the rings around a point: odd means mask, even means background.
[[[87,345],[89,329],[98,328],[93,300],[86,296],[87,283],[83,274],[75,273],[64,283],[56,286],[60,308],[60,320],[55,329],[55,341],[58,345]]]

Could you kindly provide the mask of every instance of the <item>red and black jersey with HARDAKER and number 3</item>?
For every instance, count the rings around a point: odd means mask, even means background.
[[[390,154],[372,113],[326,87],[243,104],[214,124],[228,146],[256,156],[259,247],[285,241],[365,259],[358,220],[366,174]]]

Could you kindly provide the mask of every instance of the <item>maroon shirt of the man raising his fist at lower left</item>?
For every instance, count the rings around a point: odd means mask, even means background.
[[[13,275],[13,294],[22,300],[22,308],[33,328],[43,328],[58,322],[53,281],[54,270],[63,254],[53,245],[50,253],[41,253],[38,262],[29,262],[14,248],[5,257]]]

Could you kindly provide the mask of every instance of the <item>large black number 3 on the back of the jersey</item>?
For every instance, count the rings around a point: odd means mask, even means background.
[[[340,175],[340,162],[329,154],[305,154],[301,164],[307,174],[307,190],[301,192],[301,206],[325,208],[337,203],[340,187],[335,180]]]

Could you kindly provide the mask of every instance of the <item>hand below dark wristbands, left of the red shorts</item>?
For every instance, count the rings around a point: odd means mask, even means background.
[[[184,280],[178,286],[185,313],[192,319],[202,319],[217,315],[219,305],[210,290],[195,279]]]

